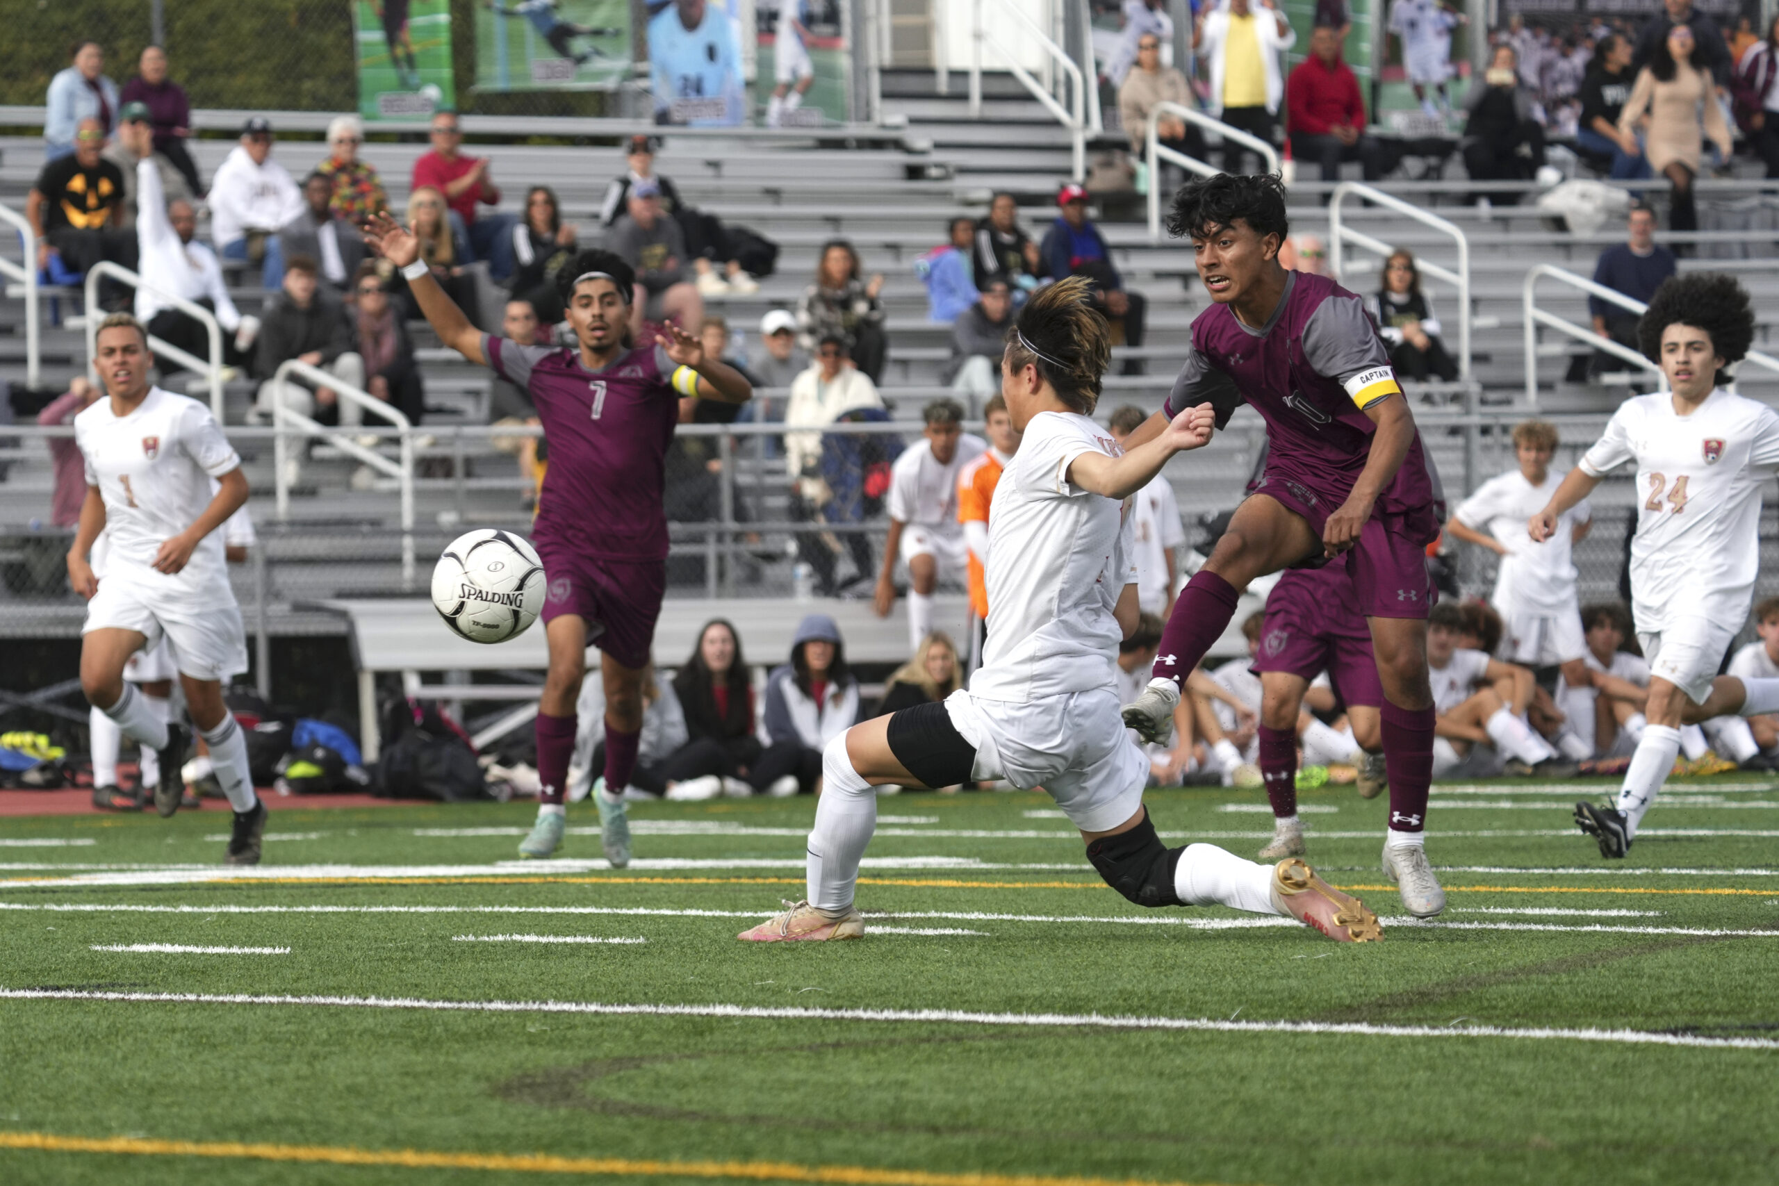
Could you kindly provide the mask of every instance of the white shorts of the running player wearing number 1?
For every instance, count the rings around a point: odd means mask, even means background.
[[[192,679],[222,681],[247,670],[247,629],[228,583],[194,592],[153,569],[110,564],[87,603],[80,633],[133,629],[148,649],[171,644],[171,661]]]

